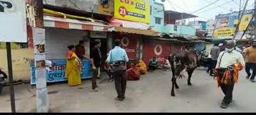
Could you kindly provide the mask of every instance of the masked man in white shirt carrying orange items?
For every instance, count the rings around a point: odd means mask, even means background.
[[[220,52],[215,68],[218,85],[225,94],[220,105],[223,109],[226,109],[232,102],[234,83],[238,82],[238,71],[242,70],[243,66],[245,66],[243,56],[234,50],[235,45],[236,42],[233,40],[227,42],[227,48],[225,51]]]

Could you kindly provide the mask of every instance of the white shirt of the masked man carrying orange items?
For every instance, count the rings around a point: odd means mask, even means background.
[[[243,66],[245,66],[245,60],[243,59],[242,54],[235,50],[233,50],[232,52],[222,51],[218,56],[216,68],[227,68],[228,66],[231,66],[235,63],[241,63]]]

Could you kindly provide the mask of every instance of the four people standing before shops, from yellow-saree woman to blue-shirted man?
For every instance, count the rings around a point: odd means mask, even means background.
[[[120,47],[120,40],[115,40],[115,48],[112,49],[109,54],[106,62],[110,68],[108,68],[108,74],[113,81],[115,78],[115,88],[117,90],[116,100],[125,99],[125,90],[126,90],[126,63],[129,61],[127,54],[124,49]],[[92,91],[100,92],[101,89],[97,85],[96,79],[99,75],[99,68],[101,66],[101,42],[94,42],[94,47],[90,51],[90,61],[92,65]],[[70,45],[68,47],[69,51],[67,53],[67,67],[65,78],[68,79],[69,86],[81,85],[81,60],[84,59],[85,47],[83,46],[83,41],[80,41],[80,44]],[[112,76],[113,75],[113,76]]]

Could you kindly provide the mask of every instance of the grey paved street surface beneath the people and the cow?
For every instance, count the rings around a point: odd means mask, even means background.
[[[242,71],[234,88],[234,102],[228,109],[220,109],[223,94],[213,77],[203,70],[196,70],[192,86],[187,78],[178,80],[179,90],[171,97],[171,72],[155,71],[141,76],[137,82],[127,83],[123,102],[114,100],[113,83],[99,80],[101,92],[90,92],[90,80],[83,85],[68,87],[67,83],[48,86],[50,110],[53,112],[256,112],[256,84],[245,79]],[[0,112],[10,112],[8,87],[0,96]],[[15,86],[18,112],[35,112],[35,89],[29,84]]]

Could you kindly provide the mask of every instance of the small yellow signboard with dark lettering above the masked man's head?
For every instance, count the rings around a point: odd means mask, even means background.
[[[228,37],[234,35],[234,28],[218,28],[214,31],[214,37]]]

